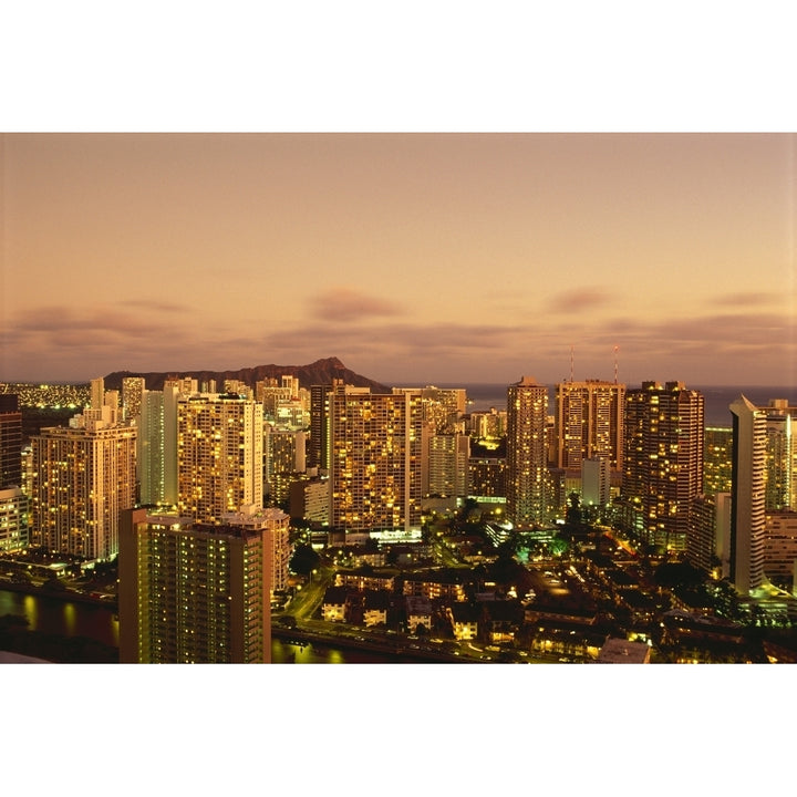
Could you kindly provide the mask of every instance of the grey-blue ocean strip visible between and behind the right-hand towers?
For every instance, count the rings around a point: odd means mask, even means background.
[[[506,410],[506,384],[476,383],[476,384],[438,384],[438,387],[465,387],[468,397],[469,412],[485,412],[490,407]],[[631,384],[629,389],[640,385]],[[797,387],[790,386],[732,386],[711,385],[703,386],[686,384],[690,390],[700,391],[705,396],[705,425],[706,426],[731,426],[731,411],[728,405],[745,395],[753,404],[766,406],[772,398],[787,398],[790,406],[797,406]],[[548,389],[549,406],[555,406],[555,389]]]

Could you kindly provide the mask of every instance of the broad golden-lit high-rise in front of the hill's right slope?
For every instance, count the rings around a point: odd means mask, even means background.
[[[330,526],[337,531],[410,531],[421,526],[421,394],[330,394]]]

